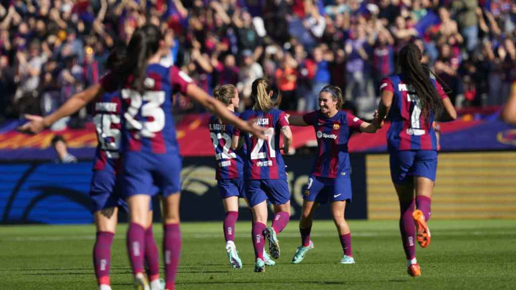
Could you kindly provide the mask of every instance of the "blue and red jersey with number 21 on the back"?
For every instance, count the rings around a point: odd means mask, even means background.
[[[244,176],[246,179],[286,179],[285,163],[280,153],[281,128],[288,126],[288,120],[284,111],[271,109],[264,112],[249,109],[240,114],[240,119],[254,120],[257,125],[266,127],[267,140],[256,138],[250,134],[244,134],[246,141],[246,158]],[[240,136],[240,131],[235,128],[233,133]]]

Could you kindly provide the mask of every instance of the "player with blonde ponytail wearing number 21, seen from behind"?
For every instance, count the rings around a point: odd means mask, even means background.
[[[244,175],[246,195],[253,213],[252,239],[256,263],[255,272],[265,271],[264,245],[269,241],[269,251],[274,259],[280,256],[277,234],[281,232],[290,219],[290,193],[286,180],[285,163],[280,149],[288,153],[292,145],[292,132],[288,126],[285,112],[275,107],[281,102],[271,100],[272,89],[265,78],[255,79],[251,85],[251,97],[254,101],[252,109],[240,114],[243,120],[251,120],[255,124],[266,127],[266,140],[245,134],[246,157]],[[284,147],[280,148],[280,132],[283,135]],[[235,130],[232,149],[238,147],[240,130]],[[274,208],[275,217],[272,227],[267,227],[267,200]]]

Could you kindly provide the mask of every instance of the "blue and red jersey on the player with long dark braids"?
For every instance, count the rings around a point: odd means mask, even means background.
[[[441,99],[448,98],[441,85],[430,78]],[[390,91],[394,94],[391,109],[387,119],[391,127],[387,133],[389,151],[400,150],[437,150],[436,131],[432,124],[433,111],[429,112],[426,120],[422,114],[423,108],[419,97],[413,88],[404,82],[401,74],[384,78],[380,84],[380,91]]]

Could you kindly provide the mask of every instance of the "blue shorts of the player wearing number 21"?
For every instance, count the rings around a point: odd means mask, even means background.
[[[246,180],[246,195],[251,207],[269,200],[272,204],[285,204],[290,200],[285,179]]]

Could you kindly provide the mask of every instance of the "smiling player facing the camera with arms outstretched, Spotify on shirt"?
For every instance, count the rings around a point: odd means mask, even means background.
[[[354,264],[351,251],[351,232],[344,219],[346,202],[351,201],[351,166],[349,163],[348,141],[350,131],[375,133],[376,127],[359,118],[341,111],[343,105],[341,89],[328,85],[319,93],[317,111],[302,116],[290,116],[294,126],[313,126],[317,137],[317,158],[308,179],[308,187],[303,196],[303,208],[299,220],[301,246],[297,248],[292,263],[303,261],[305,254],[314,248],[310,240],[312,220],[319,203],[331,202],[331,214],[337,227],[344,256],[341,264]]]

